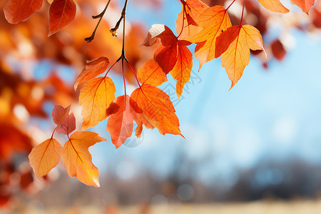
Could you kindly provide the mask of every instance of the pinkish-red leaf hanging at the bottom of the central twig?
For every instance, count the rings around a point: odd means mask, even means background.
[[[116,148],[131,137],[137,113],[142,111],[128,95],[118,96],[107,109],[107,114],[111,116],[108,118],[106,130],[111,134],[111,142]]]

